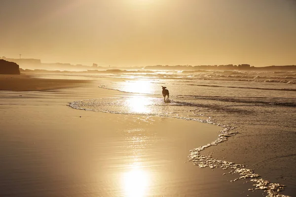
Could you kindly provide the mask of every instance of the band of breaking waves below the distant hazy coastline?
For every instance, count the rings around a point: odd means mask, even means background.
[[[296,83],[296,71],[235,71],[235,70],[89,70],[90,73],[111,74],[117,77],[143,77],[163,79],[233,80],[273,83]]]

